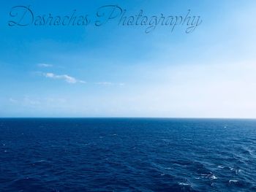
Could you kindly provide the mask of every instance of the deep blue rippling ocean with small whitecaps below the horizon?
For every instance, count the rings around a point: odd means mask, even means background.
[[[0,119],[0,191],[256,191],[256,120]]]

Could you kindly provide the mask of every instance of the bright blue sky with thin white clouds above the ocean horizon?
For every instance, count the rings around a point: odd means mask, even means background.
[[[74,10],[88,25],[35,25]],[[201,22],[119,23],[140,10]],[[249,0],[1,2],[0,117],[256,118],[255,18]]]

